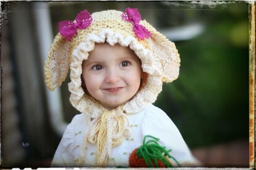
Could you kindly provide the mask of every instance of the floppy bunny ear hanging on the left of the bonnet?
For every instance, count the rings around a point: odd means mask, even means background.
[[[69,47],[70,42],[66,41],[58,33],[50,47],[46,65],[44,66],[45,82],[51,91],[62,85],[62,82],[66,79],[70,65]]]

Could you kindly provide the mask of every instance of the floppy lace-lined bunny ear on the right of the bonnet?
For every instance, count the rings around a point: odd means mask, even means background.
[[[162,73],[162,82],[172,82],[178,78],[180,70],[180,55],[174,42],[169,41],[145,20],[142,24],[151,33],[148,46],[153,52],[159,71]]]

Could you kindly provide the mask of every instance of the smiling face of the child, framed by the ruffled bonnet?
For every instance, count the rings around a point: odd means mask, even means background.
[[[129,47],[95,44],[82,64],[87,91],[107,109],[115,109],[132,98],[140,87],[140,60]]]

